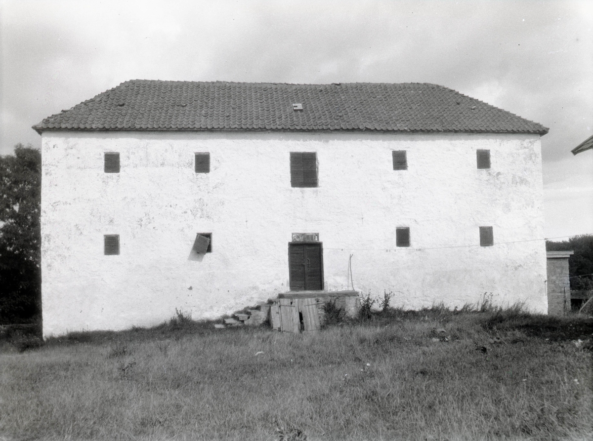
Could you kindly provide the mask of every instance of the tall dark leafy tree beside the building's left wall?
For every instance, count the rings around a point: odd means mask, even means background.
[[[0,156],[0,324],[41,313],[41,153],[17,144]]]

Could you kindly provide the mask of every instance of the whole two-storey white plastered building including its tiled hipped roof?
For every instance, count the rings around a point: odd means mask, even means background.
[[[291,290],[547,311],[547,129],[448,88],[136,80],[34,129],[46,337]]]

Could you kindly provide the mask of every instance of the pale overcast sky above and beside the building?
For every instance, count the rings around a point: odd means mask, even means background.
[[[593,1],[0,0],[0,154],[129,79],[429,82],[550,127],[546,237],[593,234]]]

